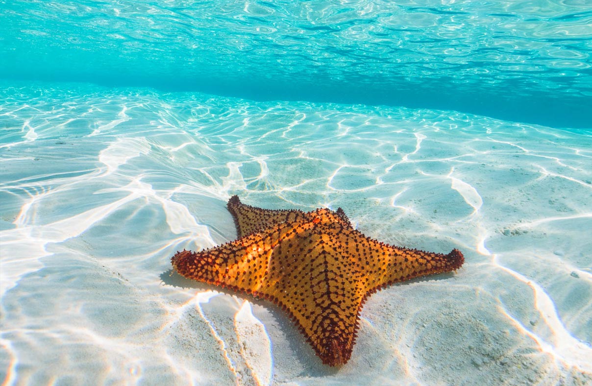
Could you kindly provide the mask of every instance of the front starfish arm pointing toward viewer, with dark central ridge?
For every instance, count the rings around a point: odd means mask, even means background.
[[[271,261],[270,271],[282,274],[270,274],[274,285],[260,292],[289,313],[324,364],[345,364],[365,297],[361,275],[333,246],[322,223],[278,246]]]

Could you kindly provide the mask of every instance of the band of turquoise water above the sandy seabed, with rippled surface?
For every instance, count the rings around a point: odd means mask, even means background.
[[[592,127],[587,0],[2,1],[0,25],[7,81]]]

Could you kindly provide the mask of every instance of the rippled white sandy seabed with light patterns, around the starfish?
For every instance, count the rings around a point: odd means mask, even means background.
[[[0,377],[40,384],[592,384],[592,134],[453,111],[3,88]],[[342,207],[462,250],[321,364],[275,305],[171,275],[226,201]]]

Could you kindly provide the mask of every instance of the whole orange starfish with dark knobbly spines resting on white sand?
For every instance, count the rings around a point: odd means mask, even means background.
[[[273,301],[285,310],[324,364],[352,355],[366,298],[386,285],[455,271],[448,255],[378,242],[353,229],[341,208],[266,210],[230,198],[239,238],[173,256],[179,274]]]

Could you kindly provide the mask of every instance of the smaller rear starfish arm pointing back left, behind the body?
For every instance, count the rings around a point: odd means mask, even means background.
[[[281,223],[310,220],[310,216],[300,210],[271,210],[245,205],[236,195],[230,198],[227,207],[234,217],[239,237],[248,236]]]

